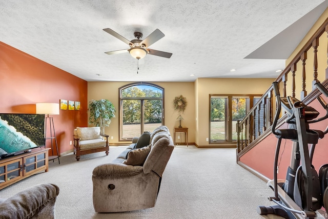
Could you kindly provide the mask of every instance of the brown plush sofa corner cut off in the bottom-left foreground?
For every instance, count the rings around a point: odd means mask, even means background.
[[[53,219],[59,194],[54,184],[38,184],[9,198],[0,198],[1,219]]]

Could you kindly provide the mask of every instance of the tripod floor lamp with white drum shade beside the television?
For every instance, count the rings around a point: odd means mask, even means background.
[[[50,139],[51,142],[51,151],[52,156],[49,156],[49,160],[54,161],[56,158],[58,158],[59,161],[59,152],[58,152],[58,144],[57,144],[57,138],[55,133],[55,127],[53,125],[53,117],[51,115],[59,115],[59,104],[55,103],[36,103],[36,114],[45,114],[46,120],[45,120],[45,140]],[[50,116],[49,116],[50,115]],[[47,135],[47,124],[50,124],[50,136]],[[55,140],[57,155],[54,155],[53,153],[53,140]],[[46,147],[46,145],[45,145]]]

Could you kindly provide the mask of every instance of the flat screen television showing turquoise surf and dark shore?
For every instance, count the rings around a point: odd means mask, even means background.
[[[44,114],[0,113],[0,158],[45,146]]]

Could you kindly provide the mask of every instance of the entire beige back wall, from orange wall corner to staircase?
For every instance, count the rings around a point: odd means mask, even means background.
[[[189,128],[188,141],[199,146],[209,146],[209,95],[210,94],[262,94],[274,81],[273,78],[198,78],[195,82],[154,82],[165,89],[165,125],[173,135],[173,127],[179,125],[179,114],[184,120],[182,126]],[[106,128],[106,133],[113,136],[110,143],[119,143],[119,102],[118,89],[131,82],[89,82],[88,102],[91,99],[109,99],[116,108],[116,117]],[[254,86],[256,84],[257,86]],[[188,106],[184,113],[174,110],[173,99],[178,95],[187,98]],[[212,145],[212,144],[211,144]]]

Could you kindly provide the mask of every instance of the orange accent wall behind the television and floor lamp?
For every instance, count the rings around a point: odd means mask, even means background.
[[[88,126],[87,81],[0,42],[0,85],[0,113],[35,113],[35,103],[79,101],[79,111],[53,115],[59,154],[73,149],[74,127]]]

